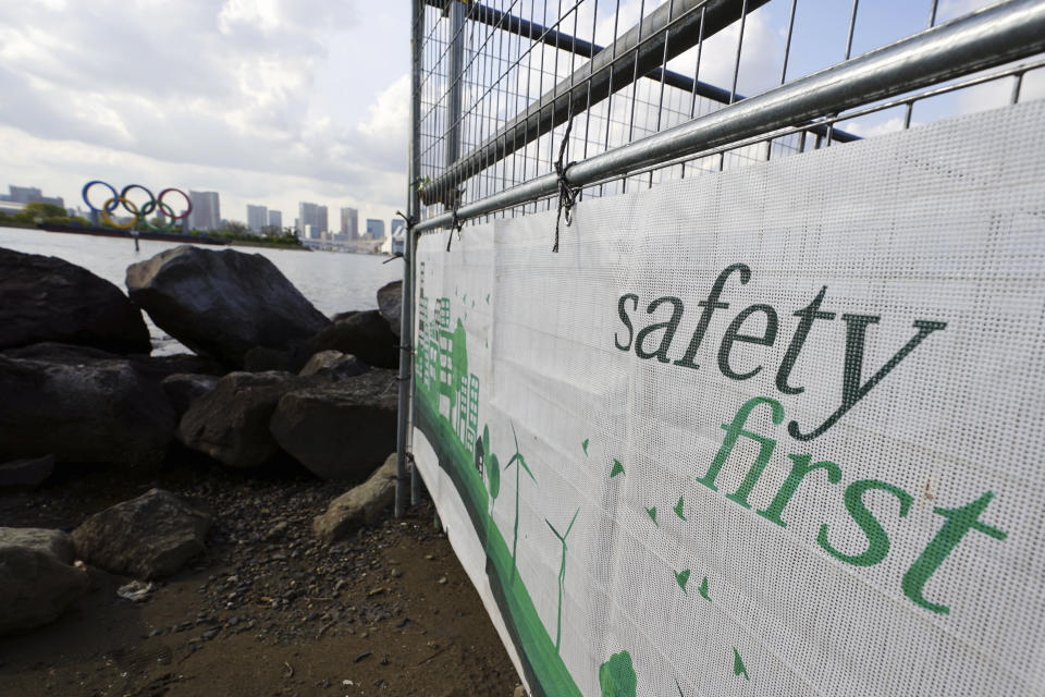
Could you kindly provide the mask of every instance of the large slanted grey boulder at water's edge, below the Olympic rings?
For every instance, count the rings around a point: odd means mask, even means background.
[[[330,323],[260,254],[182,245],[132,265],[126,282],[157,326],[232,367],[255,346],[286,350]]]

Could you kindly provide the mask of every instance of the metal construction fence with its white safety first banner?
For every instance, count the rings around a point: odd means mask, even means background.
[[[1045,0],[410,30],[397,510],[530,694],[1045,693]]]

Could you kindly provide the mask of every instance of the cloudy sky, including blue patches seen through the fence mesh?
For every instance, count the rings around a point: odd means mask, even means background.
[[[619,33],[664,0],[622,0]],[[503,5],[503,2],[493,2]],[[522,4],[528,5],[528,2]],[[548,3],[554,13],[555,3]],[[939,0],[938,21],[991,4]],[[222,217],[298,201],[365,218],[405,210],[407,0],[20,0],[0,2],[0,191],[38,186],[81,205],[87,181],[217,191]],[[540,7],[540,5],[538,5]],[[608,44],[616,2],[580,7],[579,34]],[[778,84],[790,2],[752,13],[738,90]],[[844,57],[851,3],[799,0],[788,78]],[[864,0],[852,54],[924,28],[929,0]],[[540,17],[537,17],[540,21]],[[552,16],[549,15],[551,23]],[[571,23],[564,29],[571,29]],[[701,80],[728,87],[736,27],[704,49]],[[693,51],[671,68],[691,74]],[[1038,71],[1041,73],[1043,71]],[[1029,80],[1024,96],[1045,94]],[[534,89],[536,86],[534,86]],[[914,123],[1000,103],[1007,85],[920,105]],[[534,96],[539,90],[534,91]],[[899,127],[894,111],[844,124]],[[96,201],[100,203],[100,201]]]

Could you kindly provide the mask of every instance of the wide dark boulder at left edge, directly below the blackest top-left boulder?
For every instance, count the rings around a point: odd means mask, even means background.
[[[0,460],[153,464],[175,417],[125,360],[70,366],[0,356]]]

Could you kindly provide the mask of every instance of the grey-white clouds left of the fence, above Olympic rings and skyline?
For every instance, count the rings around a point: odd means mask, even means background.
[[[261,203],[292,222],[297,196],[388,218],[406,189],[407,15],[341,0],[2,3],[0,186],[75,205],[111,176],[217,189],[232,219]]]

